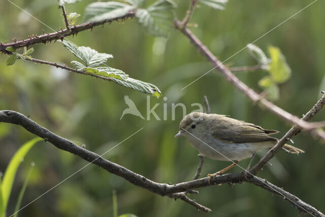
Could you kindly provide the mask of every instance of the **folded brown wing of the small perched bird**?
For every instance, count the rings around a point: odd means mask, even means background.
[[[246,123],[223,115],[215,118],[211,123],[213,137],[231,143],[278,141],[277,138],[269,136],[269,134],[275,133],[278,133],[278,131],[265,130],[252,123]]]

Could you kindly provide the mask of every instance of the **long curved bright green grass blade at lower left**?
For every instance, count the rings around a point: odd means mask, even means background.
[[[38,137],[32,139],[25,144],[23,144],[15,153],[14,157],[9,162],[9,165],[4,174],[2,182],[2,196],[3,196],[3,212],[6,213],[6,207],[8,204],[9,196],[11,193],[12,185],[16,176],[17,169],[21,163],[21,160],[26,156],[27,152],[32,146],[38,141],[41,141],[42,138]]]

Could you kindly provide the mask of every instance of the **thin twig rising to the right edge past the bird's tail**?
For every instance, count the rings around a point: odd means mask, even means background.
[[[311,120],[311,118],[313,118],[319,111],[320,109],[322,109],[322,107],[325,105],[325,93],[322,92],[323,96],[320,98],[320,100],[317,101],[317,103],[314,105],[314,107],[312,107],[306,115],[304,115],[303,118],[301,118],[302,120],[305,121],[309,121]],[[295,125],[294,127],[292,127],[279,141],[278,143],[271,148],[267,154],[261,159],[259,160],[259,162],[252,167],[249,170],[249,173],[251,174],[256,174],[258,170],[261,170],[265,164],[270,161],[275,154],[283,147],[283,145],[289,140],[291,139],[293,136],[297,135],[302,129],[300,127],[298,127],[297,125]]]

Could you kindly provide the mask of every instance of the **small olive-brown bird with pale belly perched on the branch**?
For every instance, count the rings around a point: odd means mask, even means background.
[[[203,156],[218,161],[231,161],[232,165],[214,174],[208,174],[209,182],[213,176],[220,175],[236,166],[240,160],[251,158],[249,169],[256,153],[263,148],[272,148],[279,141],[270,135],[279,131],[237,120],[222,114],[193,112],[180,122],[175,138],[184,136]],[[285,144],[282,149],[289,153],[304,153],[302,149]]]

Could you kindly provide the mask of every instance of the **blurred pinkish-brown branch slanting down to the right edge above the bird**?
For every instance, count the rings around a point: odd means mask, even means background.
[[[224,77],[230,81],[234,86],[236,86],[243,94],[248,96],[254,102],[261,102],[268,110],[273,112],[274,114],[278,115],[279,117],[283,118],[284,120],[294,123],[298,127],[312,131],[315,128],[324,127],[324,122],[314,122],[309,123],[304,120],[300,120],[299,117],[284,111],[283,109],[279,108],[278,106],[274,105],[270,101],[266,99],[261,99],[261,97],[255,92],[253,89],[248,87],[245,83],[239,80],[228,68],[226,68],[221,61],[214,56],[211,51],[195,36],[193,33],[187,28],[181,25],[179,20],[174,20],[175,27],[180,30],[189,40],[191,43],[197,47],[203,55],[207,57],[209,61],[213,64],[213,66],[221,72]],[[325,133],[319,132],[314,130],[313,134],[317,137],[320,137],[325,140]]]

